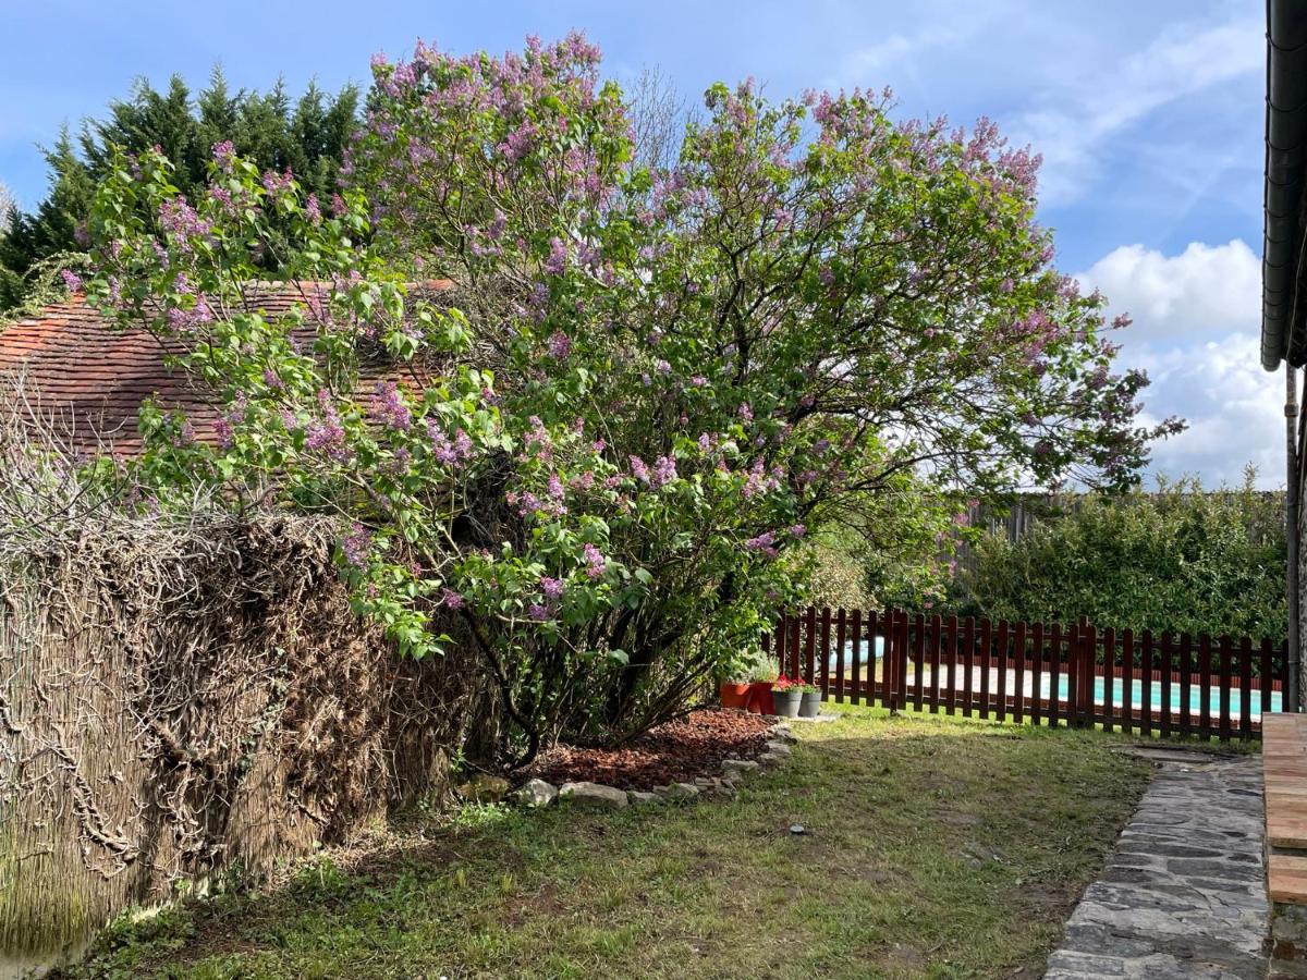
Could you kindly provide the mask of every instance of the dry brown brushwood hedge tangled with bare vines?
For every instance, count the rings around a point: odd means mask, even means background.
[[[71,953],[178,883],[442,792],[473,662],[358,621],[323,521],[145,515],[0,385],[0,953]]]

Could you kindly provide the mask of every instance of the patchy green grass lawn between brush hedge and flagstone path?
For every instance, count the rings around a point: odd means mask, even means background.
[[[1094,732],[836,710],[732,802],[465,810],[120,925],[71,976],[1038,976],[1146,764]]]

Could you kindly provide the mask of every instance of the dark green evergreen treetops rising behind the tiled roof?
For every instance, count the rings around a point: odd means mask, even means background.
[[[35,210],[13,213],[8,233],[0,234],[0,310],[24,302],[41,264],[80,248],[77,226],[110,167],[114,146],[132,153],[159,146],[176,166],[176,186],[193,195],[204,187],[213,144],[231,140],[260,167],[289,167],[303,188],[329,197],[358,105],[354,85],[331,95],[310,82],[294,101],[281,80],[267,93],[231,91],[218,68],[193,98],[176,74],[163,91],[139,81],[129,99],[110,105],[107,119],[84,122],[76,139],[65,128],[46,150],[50,195]]]

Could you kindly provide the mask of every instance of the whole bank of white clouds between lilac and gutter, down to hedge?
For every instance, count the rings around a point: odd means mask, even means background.
[[[1253,251],[1240,239],[1192,242],[1170,256],[1121,246],[1077,278],[1103,290],[1112,315],[1134,318],[1116,340],[1119,363],[1153,382],[1142,396],[1145,422],[1180,416],[1189,423],[1154,447],[1153,470],[1214,486],[1238,482],[1252,463],[1260,485],[1283,485],[1283,375],[1261,368]]]

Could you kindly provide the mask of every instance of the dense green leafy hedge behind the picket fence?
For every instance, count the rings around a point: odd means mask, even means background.
[[[1283,495],[1243,486],[1090,494],[1009,542],[975,540],[957,587],[959,612],[1091,622],[1136,631],[1270,636],[1287,630]]]

